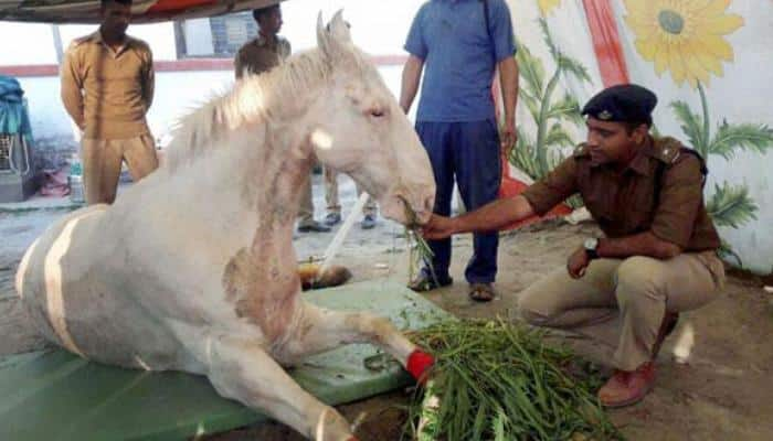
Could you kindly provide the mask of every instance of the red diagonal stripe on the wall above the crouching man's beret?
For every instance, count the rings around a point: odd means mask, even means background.
[[[583,3],[604,87],[628,84],[628,66],[610,0],[583,0]]]

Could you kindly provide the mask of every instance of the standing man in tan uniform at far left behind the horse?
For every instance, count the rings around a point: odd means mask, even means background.
[[[75,40],[62,63],[62,101],[83,131],[86,203],[112,204],[123,161],[137,182],[158,168],[145,116],[153,100],[147,43],[126,35],[131,0],[103,0],[102,24]]]

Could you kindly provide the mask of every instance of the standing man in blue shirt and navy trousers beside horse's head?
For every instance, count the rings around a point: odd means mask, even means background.
[[[405,42],[400,105],[411,108],[424,72],[416,131],[430,154],[437,193],[435,213],[451,214],[456,180],[462,200],[475,209],[497,198],[500,147],[516,140],[518,65],[510,11],[505,0],[430,0],[413,20]],[[498,133],[491,84],[499,68],[505,127]],[[465,277],[474,300],[495,297],[497,233],[475,234]],[[424,268],[410,288],[428,291],[452,283],[451,239],[431,240],[434,277]]]

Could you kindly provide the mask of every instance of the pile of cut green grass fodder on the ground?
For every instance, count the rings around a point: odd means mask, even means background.
[[[411,404],[420,441],[621,440],[601,408],[601,379],[543,333],[498,319],[446,321],[412,334],[436,365]]]

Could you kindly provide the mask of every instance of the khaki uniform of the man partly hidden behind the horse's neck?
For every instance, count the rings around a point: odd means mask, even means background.
[[[236,79],[245,75],[258,75],[271,71],[287,58],[292,53],[289,42],[282,36],[276,36],[276,43],[269,44],[268,41],[260,35],[250,42],[245,43],[236,53],[234,58],[234,69]],[[304,226],[314,223],[314,200],[313,200],[311,178],[306,181],[306,184],[300,195],[300,206],[298,207],[298,225]]]

